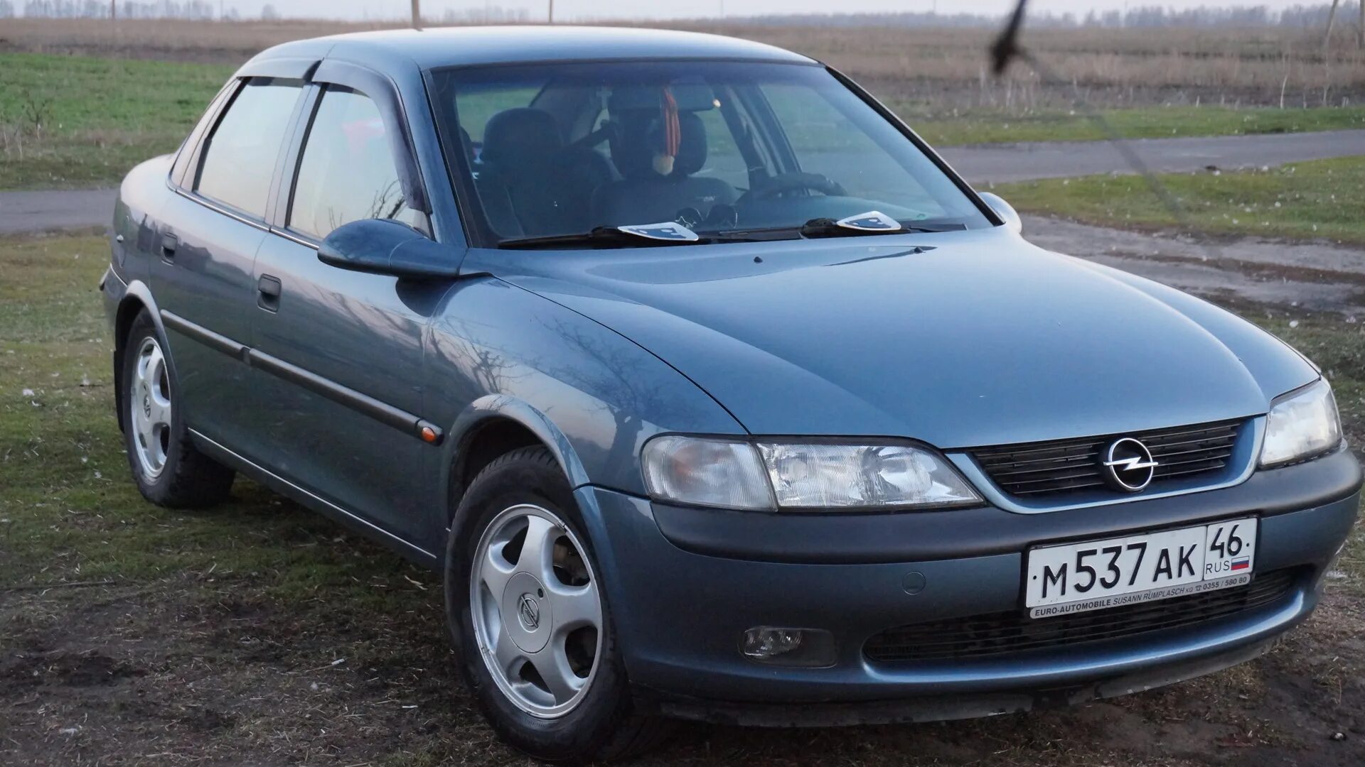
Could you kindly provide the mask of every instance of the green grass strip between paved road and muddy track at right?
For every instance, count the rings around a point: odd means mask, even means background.
[[[1365,157],[1314,160],[1268,171],[1166,173],[1160,182],[1198,233],[1365,244]],[[1138,176],[1021,182],[996,184],[995,191],[1031,213],[1121,228],[1183,228]]]

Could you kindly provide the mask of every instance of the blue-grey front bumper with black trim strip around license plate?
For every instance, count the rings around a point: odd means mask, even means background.
[[[1085,700],[1168,684],[1263,652],[1317,603],[1355,521],[1361,469],[1347,452],[1254,474],[1216,491],[1100,509],[1017,515],[759,515],[673,509],[579,489],[632,684],[662,711],[723,722],[925,721]],[[1216,621],[1026,654],[872,662],[891,626],[1021,609],[1037,543],[1260,516],[1257,572],[1297,568],[1274,603]],[[792,532],[792,531],[796,532]],[[951,551],[960,551],[953,555]],[[919,573],[906,591],[906,576]],[[762,665],[751,626],[833,632],[837,662]]]

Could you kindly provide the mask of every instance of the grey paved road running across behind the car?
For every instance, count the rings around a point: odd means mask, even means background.
[[[1130,142],[1153,171],[1282,165],[1365,154],[1365,131],[1250,136],[1162,138]],[[973,184],[1121,172],[1132,168],[1107,142],[951,146],[943,157]],[[0,235],[109,222],[113,190],[0,192]]]

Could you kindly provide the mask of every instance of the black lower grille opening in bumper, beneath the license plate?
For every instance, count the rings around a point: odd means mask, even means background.
[[[1289,592],[1295,577],[1293,568],[1271,570],[1246,585],[1222,591],[1052,618],[1029,618],[1024,611],[1010,611],[915,624],[874,636],[863,646],[863,654],[870,661],[956,661],[1175,629],[1276,602]]]

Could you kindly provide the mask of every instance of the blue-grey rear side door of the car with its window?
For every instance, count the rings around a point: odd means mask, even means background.
[[[266,210],[303,82],[240,78],[225,106],[182,149],[176,194],[158,212],[149,278],[190,427],[224,445],[253,433],[247,370],[253,263],[266,236]]]

